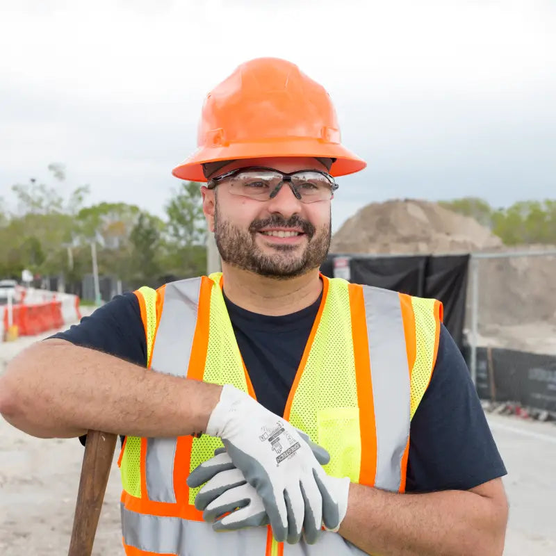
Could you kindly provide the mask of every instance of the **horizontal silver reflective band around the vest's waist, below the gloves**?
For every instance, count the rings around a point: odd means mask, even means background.
[[[215,533],[204,521],[137,514],[121,506],[124,543],[146,552],[177,556],[264,556],[267,528]],[[338,533],[322,532],[316,544],[284,544],[284,556],[363,556]]]

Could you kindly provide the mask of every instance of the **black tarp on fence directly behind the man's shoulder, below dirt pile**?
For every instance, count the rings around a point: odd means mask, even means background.
[[[334,259],[342,259],[347,268],[341,275],[354,284],[366,284],[388,290],[434,297],[444,305],[444,325],[463,350],[469,255],[411,256],[328,256],[320,272],[334,277]]]

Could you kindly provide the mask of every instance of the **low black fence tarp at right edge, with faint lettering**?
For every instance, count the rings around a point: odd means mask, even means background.
[[[466,348],[466,359],[471,350]],[[477,393],[482,400],[517,402],[556,414],[556,357],[477,347]]]

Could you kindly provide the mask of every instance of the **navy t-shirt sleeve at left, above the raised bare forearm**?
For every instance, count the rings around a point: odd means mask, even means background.
[[[147,341],[137,297],[133,293],[117,295],[99,307],[79,325],[50,336],[74,345],[91,347],[130,363],[147,366]]]

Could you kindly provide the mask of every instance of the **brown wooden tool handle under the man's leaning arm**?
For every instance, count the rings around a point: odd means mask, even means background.
[[[87,434],[68,556],[92,553],[116,439],[116,434],[107,432],[90,430]]]

